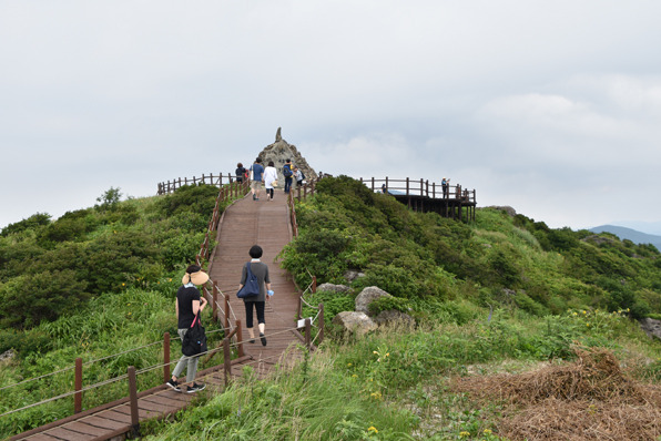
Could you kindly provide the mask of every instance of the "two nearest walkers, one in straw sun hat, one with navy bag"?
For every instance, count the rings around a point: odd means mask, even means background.
[[[247,328],[250,343],[255,343],[255,331],[253,311],[257,316],[257,330],[258,338],[262,346],[266,346],[266,321],[264,318],[264,311],[266,301],[271,299],[274,291],[271,289],[271,277],[268,275],[268,266],[264,264],[261,258],[263,249],[258,245],[253,245],[248,252],[251,260],[243,267],[241,275],[241,281],[238,284],[238,290],[241,290],[246,284],[250,283],[250,277],[256,277],[258,286],[258,294],[252,297],[243,298],[245,306],[245,326]],[[248,269],[250,268],[250,269]],[[200,265],[191,265],[186,268],[186,271],[182,278],[182,286],[176,291],[176,299],[174,302],[174,310],[177,319],[177,334],[182,340],[182,352],[184,346],[184,337],[189,332],[194,324],[200,320],[200,315],[209,304],[206,298],[200,293],[197,286],[206,284],[209,275],[202,270]],[[185,386],[186,393],[195,393],[204,390],[206,386],[195,381],[195,375],[197,373],[197,362],[202,353],[195,356],[182,355],[179,359],[174,370],[172,371],[172,378],[165,382],[170,388],[177,392],[184,392],[182,387]],[[180,376],[183,371],[186,371],[185,382],[180,382]]]

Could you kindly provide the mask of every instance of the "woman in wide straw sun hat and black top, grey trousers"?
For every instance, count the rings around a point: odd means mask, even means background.
[[[193,325],[195,316],[200,315],[207,304],[204,296],[200,296],[200,290],[195,287],[195,285],[206,284],[206,280],[209,280],[209,275],[204,273],[199,265],[191,265],[186,268],[186,274],[182,278],[183,285],[176,291],[176,300],[174,302],[177,320],[176,332],[182,341],[184,335]],[[203,390],[206,386],[195,382],[199,360],[200,356],[182,356],[172,371],[172,378],[167,380],[166,384],[175,391],[181,392],[182,390],[177,378],[185,369],[187,384],[186,393],[194,393],[199,390]]]

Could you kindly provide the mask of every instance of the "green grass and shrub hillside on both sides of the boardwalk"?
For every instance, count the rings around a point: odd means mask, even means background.
[[[319,351],[294,372],[267,381],[245,376],[222,396],[201,398],[174,422],[146,424],[150,439],[520,439],[507,403],[485,403],[452,379],[572,362],[580,366],[571,372],[581,373],[590,360],[603,365],[603,348],[627,367],[608,378],[621,373],[617,382],[651,390],[655,386],[649,384],[659,384],[661,347],[634,320],[661,311],[654,247],[551,229],[494,209],[478,209],[474,224],[413,213],[344,176],[325,178],[317,189],[296,205],[301,236],[283,252],[283,265],[299,286],[307,285],[307,271],[319,283],[347,284],[347,270],[364,277],[346,295],[317,293],[308,301],[324,302],[329,321],[353,310],[359,290],[375,285],[396,297],[377,307],[405,310],[416,326],[357,340],[330,326]],[[18,357],[0,363],[0,387],[70,366],[81,352],[100,358],[174,332],[171,299],[210,216],[204,203],[192,202],[215,197],[206,192],[192,187],[125,202],[106,194],[82,213],[55,222],[35,215],[2,230],[0,352],[14,348]],[[55,276],[60,281],[47,283]],[[148,349],[102,363],[93,376],[109,378],[155,360]],[[70,389],[65,378],[2,393],[0,413]],[[90,406],[112,393],[90,393]],[[600,414],[604,402],[584,408],[599,406],[592,414]],[[67,412],[47,406],[12,414],[0,421],[0,434]],[[657,430],[651,421],[647,427]]]

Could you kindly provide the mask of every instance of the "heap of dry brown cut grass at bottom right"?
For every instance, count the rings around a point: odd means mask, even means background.
[[[629,378],[604,349],[520,375],[457,378],[456,392],[505,403],[498,433],[511,440],[657,440],[661,388]]]

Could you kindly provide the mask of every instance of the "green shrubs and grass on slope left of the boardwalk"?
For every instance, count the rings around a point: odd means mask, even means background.
[[[111,188],[93,208],[47,214],[0,233],[0,388],[63,370],[0,393],[0,413],[73,390],[81,357],[83,383],[162,362],[163,332],[176,337],[173,296],[204,239],[218,188],[184,186],[171,195],[120,201]],[[224,209],[224,207],[221,207]],[[213,325],[211,345],[220,338]],[[215,330],[216,334],[213,331]],[[157,345],[153,345],[156,342]],[[134,348],[145,348],[131,351]],[[173,357],[179,342],[173,342]],[[120,357],[105,357],[126,352]],[[100,360],[98,362],[89,362]],[[139,377],[143,389],[162,370]],[[121,382],[87,391],[91,408],[125,396]],[[72,413],[72,399],[0,419],[0,438]]]

